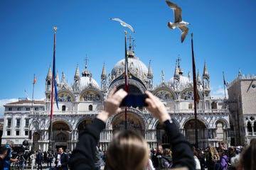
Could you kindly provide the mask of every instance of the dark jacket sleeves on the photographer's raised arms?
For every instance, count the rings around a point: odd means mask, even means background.
[[[195,162],[193,152],[189,142],[178,131],[174,123],[169,120],[164,122],[165,130],[171,139],[173,152],[173,166],[187,166],[189,170],[194,170]],[[100,132],[105,128],[102,120],[95,118],[92,124],[87,125],[85,132],[79,138],[79,142],[70,157],[70,169],[73,170],[92,170],[95,169],[96,145],[100,138]]]

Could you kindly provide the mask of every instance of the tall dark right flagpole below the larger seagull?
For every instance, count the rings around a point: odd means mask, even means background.
[[[195,115],[195,135],[196,135],[196,148],[198,148],[198,120],[197,120],[197,112],[196,112],[196,102],[198,101],[198,91],[196,87],[196,64],[195,57],[193,54],[193,33],[191,33],[191,47],[192,47],[192,67],[193,67],[193,94],[194,94],[194,115]]]

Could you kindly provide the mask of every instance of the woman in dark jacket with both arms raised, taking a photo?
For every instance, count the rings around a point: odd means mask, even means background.
[[[70,157],[70,169],[85,170],[95,169],[95,149],[100,139],[100,132],[105,128],[105,123],[112,115],[121,111],[119,108],[127,92],[119,89],[112,90],[105,101],[104,111],[97,115],[91,125],[87,125],[85,132],[80,136],[79,142]],[[195,169],[192,149],[186,138],[172,123],[164,103],[159,98],[146,91],[146,108],[160,123],[171,139],[174,168]],[[144,170],[149,163],[149,147],[141,135],[124,130],[114,135],[106,152],[106,166],[111,170]]]

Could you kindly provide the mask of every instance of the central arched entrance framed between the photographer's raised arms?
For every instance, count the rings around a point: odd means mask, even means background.
[[[116,115],[112,120],[113,133],[124,130],[124,113]],[[136,113],[127,113],[127,130],[133,130],[144,136],[145,125]]]

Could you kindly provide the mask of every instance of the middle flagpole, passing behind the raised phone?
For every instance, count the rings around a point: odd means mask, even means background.
[[[129,93],[128,86],[128,57],[127,57],[127,30],[124,30],[124,89],[127,93]],[[127,107],[124,108],[124,129],[127,130]]]

